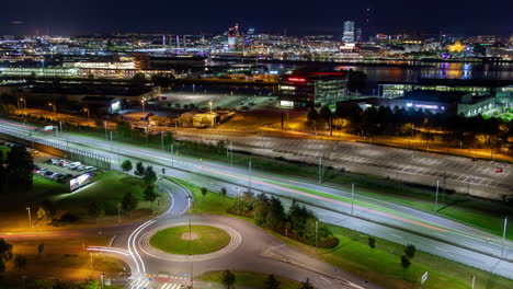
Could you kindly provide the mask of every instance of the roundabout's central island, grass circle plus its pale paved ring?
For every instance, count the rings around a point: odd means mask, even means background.
[[[155,258],[175,262],[206,261],[233,252],[240,233],[225,224],[194,221],[152,228],[139,240],[140,250]]]

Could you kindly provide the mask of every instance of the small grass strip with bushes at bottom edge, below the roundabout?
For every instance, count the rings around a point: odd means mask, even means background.
[[[246,288],[260,289],[264,288],[265,279],[269,275],[254,271],[231,271],[236,276],[236,287],[243,286]],[[300,282],[287,278],[275,276],[280,281],[281,289],[297,289]],[[220,284],[223,271],[207,271],[196,277],[196,280],[205,282]]]

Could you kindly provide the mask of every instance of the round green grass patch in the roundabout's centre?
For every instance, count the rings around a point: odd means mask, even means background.
[[[189,226],[172,227],[157,232],[150,239],[150,244],[171,254],[189,255],[208,254],[224,248],[230,242],[230,236],[221,229],[210,226],[192,226],[191,232],[198,234],[193,241],[183,240],[189,234]]]

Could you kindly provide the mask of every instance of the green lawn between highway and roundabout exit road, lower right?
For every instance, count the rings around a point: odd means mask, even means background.
[[[420,286],[418,282],[425,271],[429,271],[429,279],[422,288],[470,288],[472,275],[476,276],[476,288],[513,288],[513,280],[419,251],[411,267],[404,271],[399,261],[404,250],[402,245],[376,238],[373,250],[367,245],[367,235],[341,227],[329,228],[339,238],[340,245],[320,250],[318,257],[386,288],[413,288],[412,284]],[[315,255],[312,246],[276,236]]]

